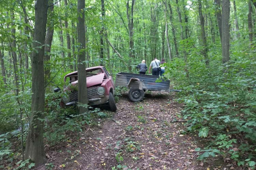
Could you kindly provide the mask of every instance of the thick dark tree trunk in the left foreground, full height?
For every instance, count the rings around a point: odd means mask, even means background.
[[[45,163],[44,150],[44,44],[47,21],[48,0],[37,0],[35,3],[35,29],[33,35],[32,63],[32,102],[30,126],[26,141],[26,159],[35,162],[35,166]]]

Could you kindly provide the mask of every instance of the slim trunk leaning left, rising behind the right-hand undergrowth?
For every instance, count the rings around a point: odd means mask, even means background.
[[[202,45],[204,46],[203,55],[204,55],[204,58],[205,58],[205,64],[209,65],[209,59],[208,59],[208,53],[207,53],[208,48],[207,48],[207,42],[206,42],[206,37],[205,37],[204,16],[203,16],[203,13],[202,13],[201,0],[198,0],[198,12],[199,12],[199,18],[200,18]]]

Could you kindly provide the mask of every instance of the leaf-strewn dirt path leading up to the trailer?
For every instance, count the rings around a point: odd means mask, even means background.
[[[204,139],[184,134],[175,94],[146,93],[133,103],[119,97],[116,113],[86,127],[79,140],[47,148],[52,169],[240,169],[223,157],[197,159]],[[182,133],[183,132],[183,133]],[[76,134],[74,134],[75,136]],[[51,162],[51,163],[50,163]]]

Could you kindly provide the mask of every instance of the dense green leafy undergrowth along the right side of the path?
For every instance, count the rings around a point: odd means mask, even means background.
[[[228,64],[213,55],[209,66],[198,56],[187,63],[175,58],[166,64],[165,76],[182,90],[177,101],[186,104],[187,131],[211,139],[205,148],[196,148],[199,159],[218,154],[255,169],[256,60],[240,55]]]

